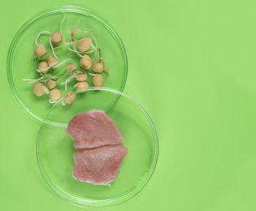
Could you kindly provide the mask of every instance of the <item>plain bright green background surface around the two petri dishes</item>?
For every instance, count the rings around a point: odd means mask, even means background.
[[[39,123],[18,107],[6,60],[18,28],[48,7],[104,17],[127,48],[125,92],[159,134],[146,188],[107,210],[256,210],[256,1],[1,1],[0,210],[83,210],[50,191],[37,168]]]

